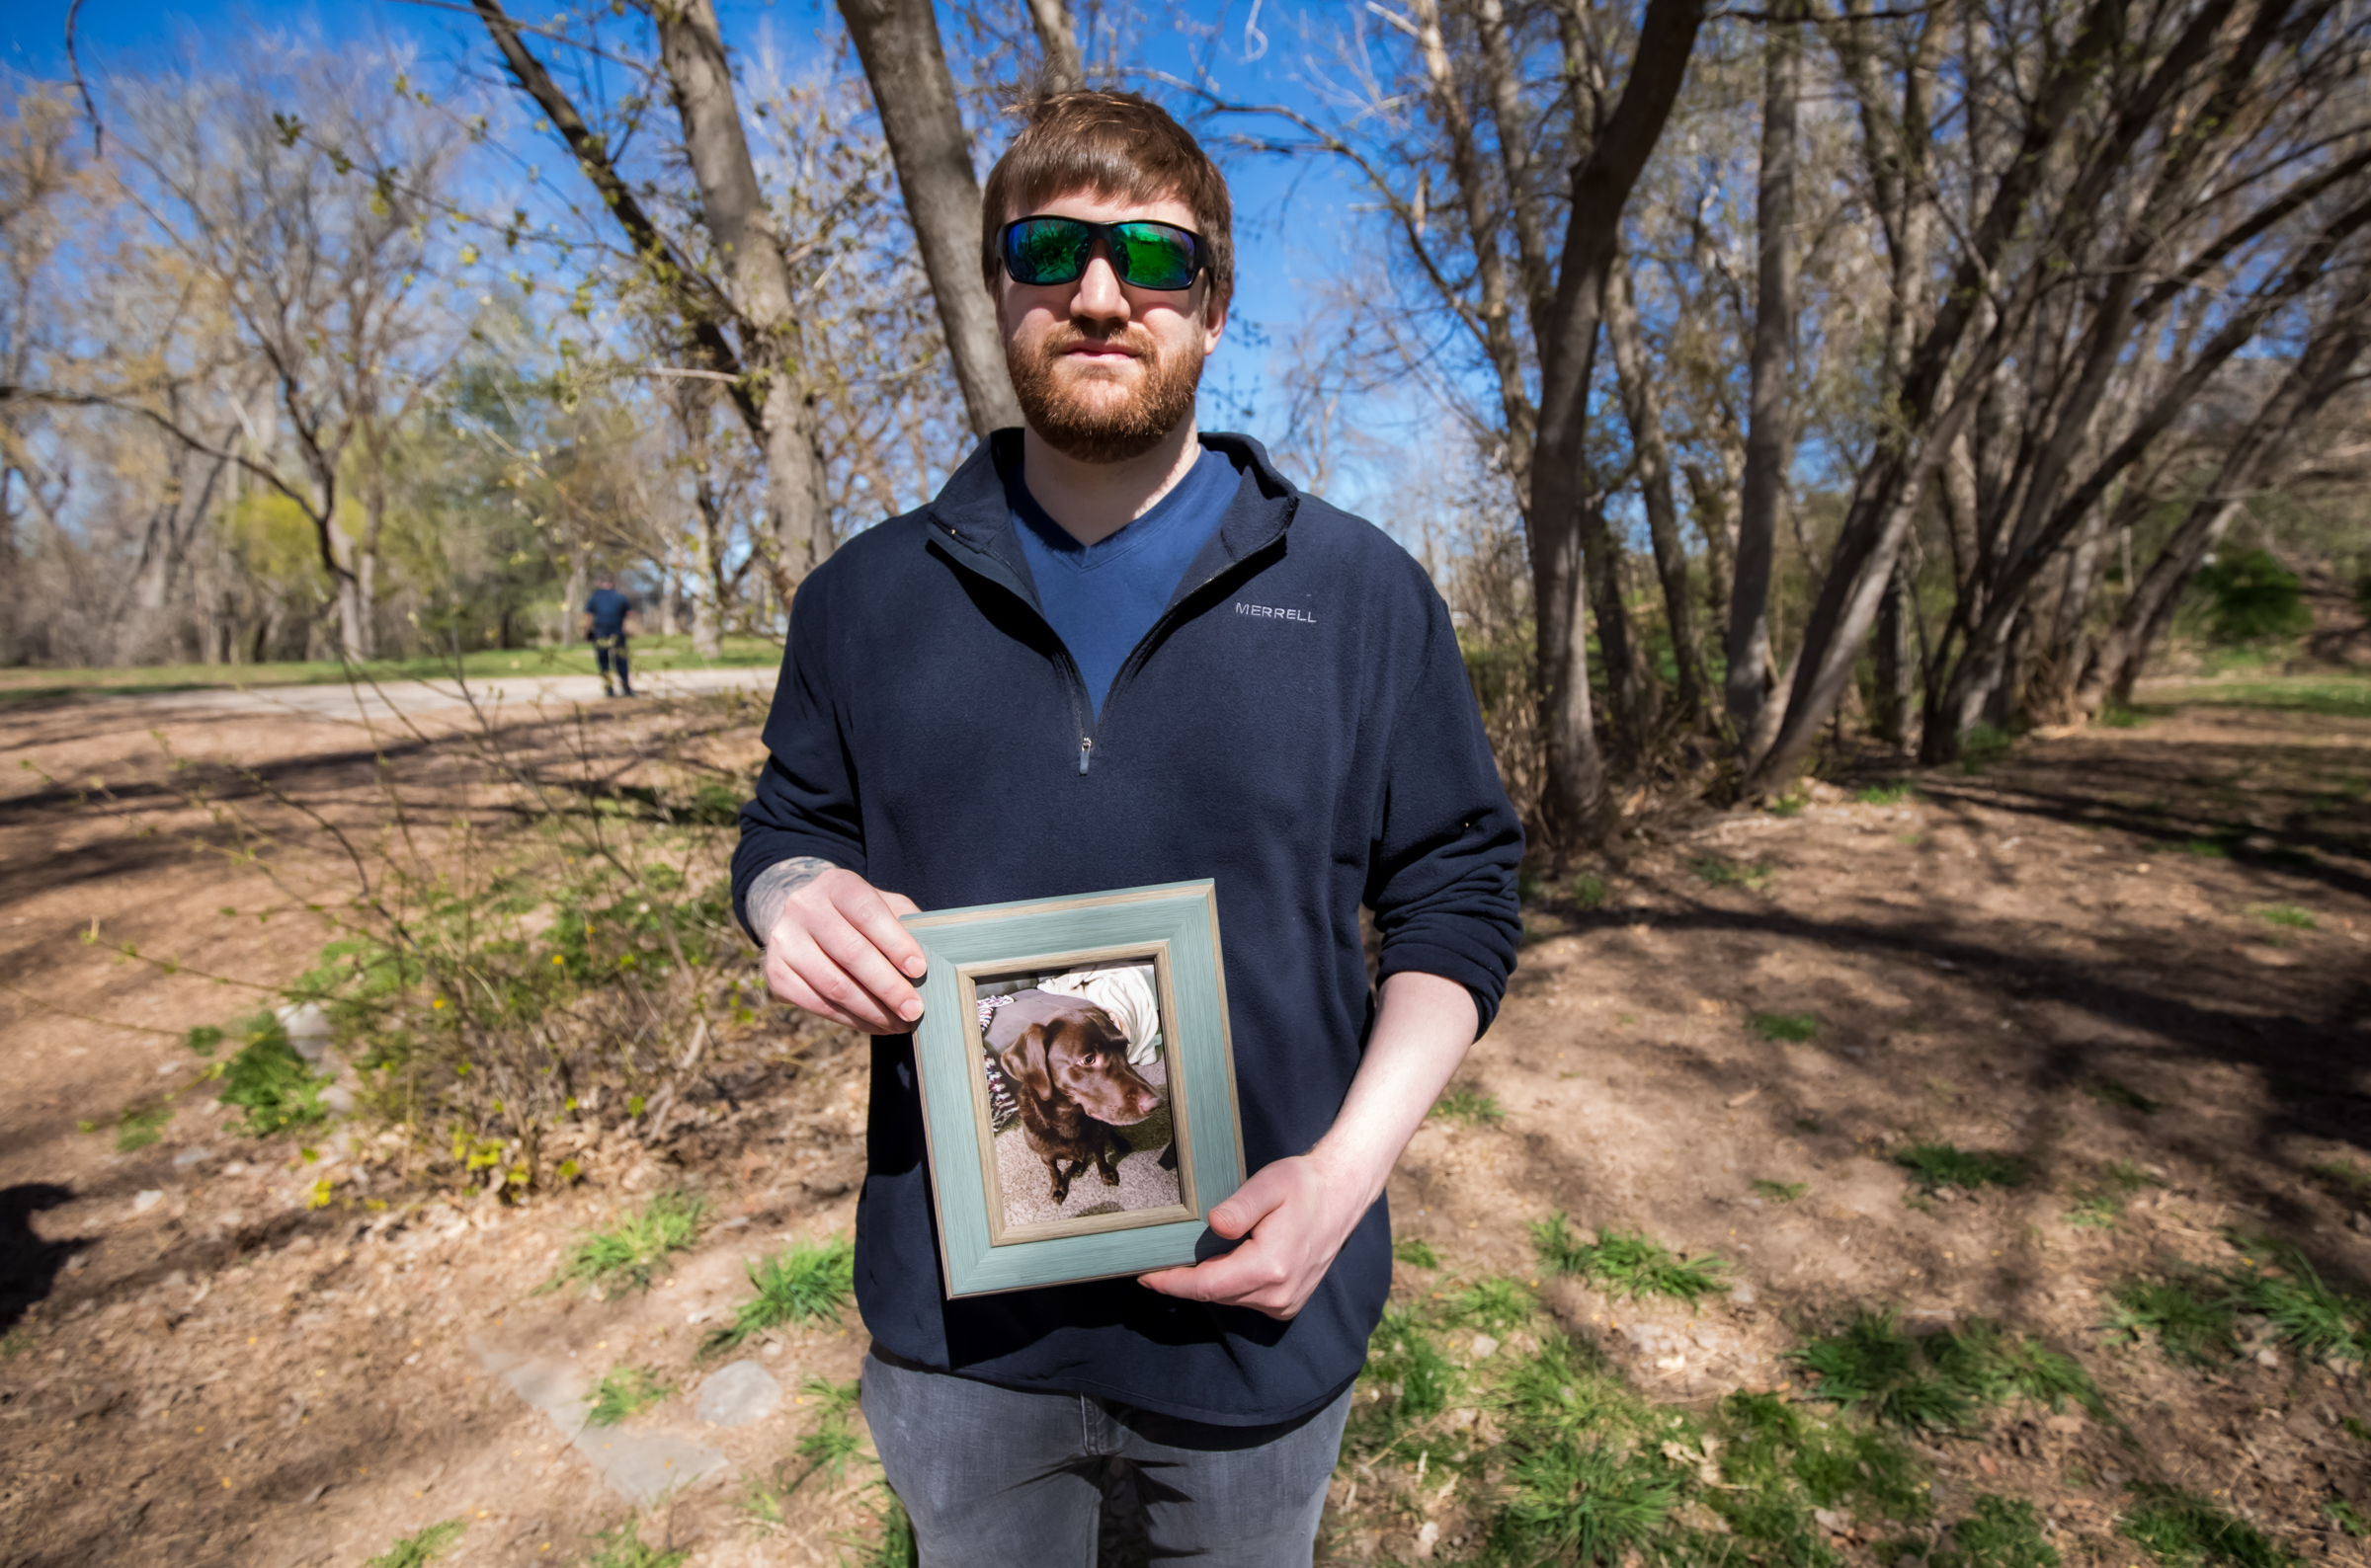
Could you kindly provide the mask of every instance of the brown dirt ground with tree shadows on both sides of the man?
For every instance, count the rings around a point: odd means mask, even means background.
[[[754,765],[749,718],[718,746]],[[747,1296],[744,1260],[851,1227],[851,1042],[761,1023],[664,1146],[612,1135],[586,1182],[522,1206],[410,1182],[398,1139],[358,1123],[311,1151],[230,1137],[197,1092],[154,1146],[116,1153],[119,1111],[187,1082],[183,1030],[311,962],[320,938],[287,907],[339,886],[330,829],[368,831],[389,779],[422,805],[453,789],[462,718],[413,722],[379,744],[325,715],[138,699],[0,718],[0,1324],[21,1312],[0,1341],[0,1568],[360,1563],[448,1518],[467,1530],[439,1561],[586,1561],[631,1504],[522,1397],[522,1357],[560,1383],[633,1360],[678,1386],[633,1426],[721,1459],[643,1516],[650,1544],[718,1568],[861,1551],[863,1464],[806,1483],[782,1521],[749,1506],[816,1431],[801,1381],[854,1376],[854,1315],[742,1350],[787,1390],[773,1414],[695,1414],[714,1369],[697,1345]],[[680,711],[600,711],[581,734],[666,722]],[[275,831],[256,860],[204,848],[223,834],[185,789],[211,775],[175,772],[159,734],[270,779],[277,798],[242,805]],[[1854,798],[1880,779],[1916,793]],[[1444,1272],[1527,1281],[1527,1227],[1553,1210],[1721,1255],[1738,1289],[1693,1315],[1539,1284],[1567,1331],[1686,1405],[1785,1383],[1778,1355],[1852,1307],[2003,1319],[2075,1352],[2129,1435],[2070,1416],[1939,1442],[1942,1506],[2030,1497],[2070,1561],[2127,1563],[2108,1537],[2122,1483],[2169,1480],[2309,1561],[2366,1561],[2324,1514],[2371,1511],[2371,1447],[2343,1426],[2371,1421],[2359,1371],[2276,1352],[2174,1371],[2101,1322],[2122,1274],[2229,1265],[2226,1227],[2371,1281],[2362,1199],[2307,1172],[2371,1156],[2371,722],[2169,706],[1975,772],[1871,765],[1795,815],[1657,829],[1603,898],[1572,893],[1539,891],[1461,1075],[1503,1120],[1418,1132],[1392,1184],[1401,1236]],[[116,940],[178,971],[109,957]],[[1811,1037],[1764,1037],[1755,1018],[1776,1014]],[[1890,1153],[1911,1142],[2013,1151],[2037,1175],[1906,1203]],[[2113,1161],[2155,1184],[2113,1227],[2077,1227],[2075,1191]],[[325,1172],[384,1208],[308,1208]],[[647,1293],[538,1293],[574,1236],[664,1184],[707,1194],[709,1227]],[[1401,1274],[1408,1293],[1437,1279]],[[1337,1506],[1321,1561],[1458,1556],[1439,1528],[1420,1547],[1420,1523]],[[1873,1561],[1849,1521],[1833,1544]]]

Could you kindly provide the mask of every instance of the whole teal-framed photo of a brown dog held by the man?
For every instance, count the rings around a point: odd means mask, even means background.
[[[1195,1262],[1242,1184],[1209,881],[908,914],[948,1296]]]

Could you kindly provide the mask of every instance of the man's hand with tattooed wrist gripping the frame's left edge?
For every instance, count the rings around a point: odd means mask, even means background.
[[[813,855],[749,886],[749,926],[766,933],[766,988],[818,1018],[903,1035],[922,1016],[922,945],[899,924],[915,902]]]

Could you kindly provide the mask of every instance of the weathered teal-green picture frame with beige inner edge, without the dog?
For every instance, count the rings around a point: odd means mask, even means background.
[[[929,959],[913,1056],[946,1296],[993,1296],[1195,1262],[1209,1210],[1245,1180],[1216,886],[1204,879],[927,910],[903,917],[903,924]],[[993,997],[991,1009],[979,1002],[984,990],[1020,1000],[1027,992],[1012,992],[1012,985],[1029,976],[1098,969],[1131,969],[1152,983],[1157,1071],[1148,1063],[1136,1082],[1159,1082],[1169,1149],[1157,1161],[1150,1149],[1133,1149],[1117,1165],[1076,1165],[1069,1182],[1079,1199],[1065,1199],[1057,1163],[1027,1163],[1043,1156],[1034,1132],[1020,1125],[1010,1125],[1003,1139],[996,1132],[998,1097],[996,1075],[986,1068],[991,1047],[984,1021],[996,1016]],[[1143,981],[1131,985],[1138,985],[1133,995],[1145,995]],[[1138,1023],[1136,1033],[1148,1030]],[[1005,1094],[1010,1099],[1010,1085]],[[1015,1111],[1008,1120],[1027,1118]],[[1121,1146],[1129,1146],[1126,1137],[1112,1144],[1114,1151]],[[1107,1194],[1119,1191],[1112,1172],[1129,1161],[1136,1161],[1129,1189],[1143,1191],[1150,1177],[1155,1196],[1119,1208]],[[1155,1175],[1145,1161],[1169,1175]],[[1046,1180],[1050,1189],[1036,1194]],[[1036,1213],[1048,1208],[1048,1199],[1057,1210],[1053,1217]],[[1095,1213],[1062,1213],[1067,1208]]]

